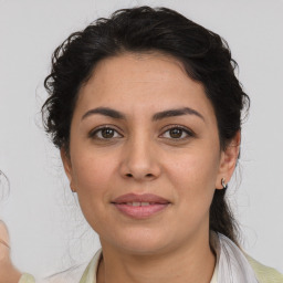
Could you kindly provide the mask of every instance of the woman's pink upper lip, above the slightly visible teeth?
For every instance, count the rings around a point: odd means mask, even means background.
[[[126,193],[117,197],[112,203],[127,203],[127,202],[154,202],[154,203],[169,203],[170,201],[153,193]]]

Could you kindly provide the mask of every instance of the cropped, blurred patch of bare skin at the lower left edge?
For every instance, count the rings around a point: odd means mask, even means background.
[[[18,283],[21,273],[13,266],[10,259],[10,240],[7,227],[0,220],[0,283]]]

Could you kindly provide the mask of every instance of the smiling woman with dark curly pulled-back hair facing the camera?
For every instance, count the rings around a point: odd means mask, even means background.
[[[56,49],[45,127],[102,243],[71,271],[81,283],[283,282],[239,248],[224,198],[249,106],[235,65],[165,8],[117,11]]]

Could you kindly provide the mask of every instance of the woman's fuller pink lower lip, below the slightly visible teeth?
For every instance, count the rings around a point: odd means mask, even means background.
[[[157,212],[160,212],[165,210],[169,203],[154,203],[149,206],[140,206],[140,207],[134,207],[128,206],[126,203],[114,203],[114,206],[124,214],[135,218],[135,219],[145,219],[149,218]]]

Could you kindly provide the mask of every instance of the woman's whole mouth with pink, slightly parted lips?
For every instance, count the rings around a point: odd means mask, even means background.
[[[170,201],[151,193],[128,193],[116,198],[112,201],[112,205],[127,217],[146,219],[164,211],[170,205]]]

